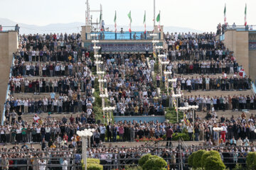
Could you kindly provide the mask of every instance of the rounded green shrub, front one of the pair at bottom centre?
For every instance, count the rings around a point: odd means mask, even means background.
[[[149,157],[149,160],[142,166],[143,170],[166,170],[167,162],[156,155]]]

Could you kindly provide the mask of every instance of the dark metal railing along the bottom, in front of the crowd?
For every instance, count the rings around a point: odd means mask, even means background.
[[[174,169],[187,169],[188,168],[188,157],[195,151],[199,149],[215,149],[218,151],[220,148],[230,148],[234,149],[239,147],[193,147],[189,151],[186,148],[179,145],[179,147],[169,147],[170,151],[166,151],[166,147],[136,147],[133,148],[133,152],[124,152],[126,149],[122,147],[107,148],[110,152],[107,153],[89,153],[88,158],[100,159],[100,164],[105,167],[105,169],[124,169],[127,166],[138,166],[139,159],[144,154],[153,154],[162,157],[167,162],[167,167],[172,167]],[[148,149],[148,151],[145,151]],[[171,152],[171,150],[173,150]],[[246,157],[245,153],[241,151],[235,152],[219,152],[220,157],[223,160],[225,166],[235,166],[235,164],[245,165]],[[60,150],[60,151],[24,151],[24,152],[0,152],[2,155],[16,155],[23,154],[23,157],[7,157],[5,160],[11,162],[9,167],[14,167],[18,169],[28,169],[29,167],[40,167],[46,166],[49,169],[55,169],[56,167],[63,167],[62,162],[64,159],[68,161],[68,167],[72,169],[81,169],[81,153],[75,152],[75,150]],[[63,156],[65,155],[65,157]],[[178,157],[177,157],[178,155]],[[0,158],[0,162],[3,159]],[[45,164],[41,164],[41,162]],[[3,167],[3,165],[0,165]],[[167,168],[166,167],[166,168]]]

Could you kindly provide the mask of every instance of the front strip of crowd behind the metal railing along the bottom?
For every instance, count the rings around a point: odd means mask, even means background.
[[[220,146],[220,147],[173,147],[164,148],[157,146],[141,147],[110,147],[104,145],[98,148],[88,148],[87,157],[100,159],[103,169],[124,169],[128,165],[136,166],[139,159],[145,154],[152,154],[162,157],[170,169],[189,169],[188,157],[199,149],[207,151],[218,151],[220,157],[228,168],[233,169],[235,164],[245,166],[246,156],[249,152],[255,152],[255,146]],[[18,147],[2,147],[1,166],[2,169],[81,169],[81,143],[77,148],[50,148],[46,151],[35,149],[33,145],[22,145]]]

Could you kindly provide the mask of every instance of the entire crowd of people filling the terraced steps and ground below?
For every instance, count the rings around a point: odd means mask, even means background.
[[[165,60],[170,61],[166,70],[173,72],[172,78],[176,78],[176,82],[172,83],[175,94],[182,94],[183,90],[251,89],[252,80],[243,72],[240,73],[242,69],[239,69],[233,52],[215,40],[215,33],[167,33],[165,38],[168,50],[161,51],[161,54],[165,54]],[[160,86],[160,81],[164,85],[166,77],[156,75],[155,86],[151,75],[155,61],[152,57],[147,62],[148,56],[148,52],[146,56],[139,52],[102,54],[103,64],[100,68],[105,72],[102,79],[106,79],[103,87],[107,89],[110,106],[115,107],[114,115],[164,115],[164,107],[169,105],[168,96],[165,93],[157,94],[156,87]],[[205,141],[207,149],[216,145],[220,137],[220,147],[217,149],[224,162],[243,163],[246,153],[254,150],[252,140],[256,137],[255,116],[247,118],[242,113],[239,118],[228,119],[224,115],[220,117],[221,113],[217,115],[216,111],[255,109],[255,96],[198,95],[178,99],[178,107],[197,105],[198,111],[207,111],[206,120],[199,118],[196,112],[193,116],[192,111],[187,111],[184,112],[181,123],[134,120],[104,125],[97,123],[92,107],[92,89],[96,79],[92,69],[95,69],[95,63],[90,57],[90,51],[82,47],[79,34],[20,35],[19,50],[15,53],[15,58],[13,77],[9,80],[11,98],[6,101],[6,121],[0,127],[0,142],[23,144],[23,147],[1,148],[1,153],[20,152],[2,154],[2,165],[15,165],[14,168],[10,166],[10,169],[15,169],[18,164],[29,164],[29,169],[34,169],[33,164],[36,169],[46,169],[46,164],[58,164],[60,169],[68,169],[68,164],[80,164],[82,145],[76,132],[88,128],[95,129],[95,132],[88,143],[91,148],[87,150],[87,155],[99,158],[105,169],[117,167],[118,154],[121,164],[129,164],[134,160],[137,162],[137,158],[143,153],[158,154],[171,164],[178,164],[179,149],[172,148],[170,141],[181,132],[188,135],[187,140]],[[202,75],[184,77],[180,74]],[[228,77],[227,74],[232,76]],[[19,98],[16,94],[34,96]],[[41,94],[45,96],[36,96]],[[23,119],[23,114],[27,113],[33,113],[31,120]],[[41,113],[48,113],[47,118],[40,118]],[[63,114],[60,119],[55,119],[52,113],[71,114]],[[216,127],[221,127],[223,131],[216,132],[213,130]],[[104,142],[135,142],[143,138],[166,140],[166,148],[104,147]],[[41,149],[34,149],[33,143],[40,143]],[[228,148],[225,149],[224,145]],[[183,162],[186,163],[188,155],[195,150],[184,149]],[[63,152],[58,153],[60,151]],[[49,158],[67,154],[69,157],[66,158]],[[26,157],[31,158],[28,163]],[[41,157],[45,159],[33,159]]]

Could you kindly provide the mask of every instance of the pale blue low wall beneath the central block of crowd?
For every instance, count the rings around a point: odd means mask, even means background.
[[[166,119],[165,119],[165,116],[164,115],[155,115],[155,116],[152,116],[152,115],[139,115],[139,116],[114,116],[114,121],[118,122],[118,121],[122,121],[124,122],[124,120],[127,120],[128,122],[129,121],[137,121],[139,122],[140,120],[142,120],[143,122],[146,121],[146,122],[149,122],[149,121],[154,121],[154,123],[156,123],[156,120],[158,120],[160,123],[164,122]]]

